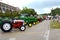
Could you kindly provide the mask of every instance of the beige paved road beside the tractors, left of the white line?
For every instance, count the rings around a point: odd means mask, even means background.
[[[31,28],[27,27],[26,31],[13,30],[9,33],[3,33],[0,30],[0,40],[49,40],[50,21],[43,21]]]

